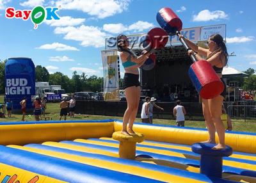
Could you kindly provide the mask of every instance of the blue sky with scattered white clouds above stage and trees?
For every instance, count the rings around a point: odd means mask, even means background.
[[[32,10],[35,6],[61,5],[60,20],[46,21],[34,29],[31,20],[6,19],[5,10]],[[29,57],[50,73],[68,77],[77,70],[102,76],[100,51],[104,38],[118,33],[147,33],[159,27],[156,13],[174,10],[183,28],[227,25],[228,65],[237,70],[256,68],[256,1],[157,0],[0,0],[0,60]],[[123,75],[123,70],[122,75]]]

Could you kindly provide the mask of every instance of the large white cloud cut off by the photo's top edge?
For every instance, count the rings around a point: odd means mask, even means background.
[[[80,10],[89,15],[104,19],[122,13],[127,10],[131,0],[60,0],[56,6],[61,5],[62,9]]]

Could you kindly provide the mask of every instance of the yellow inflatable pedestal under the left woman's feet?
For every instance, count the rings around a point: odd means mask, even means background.
[[[120,141],[119,157],[123,159],[135,159],[136,143],[144,140],[144,135],[140,133],[131,134],[129,136],[122,134],[120,131],[114,132],[112,138]]]

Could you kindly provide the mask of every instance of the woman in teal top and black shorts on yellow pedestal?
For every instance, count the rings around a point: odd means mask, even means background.
[[[141,56],[136,56],[136,54],[128,48],[129,41],[125,35],[119,35],[117,37],[117,47],[118,51],[120,51],[122,65],[125,70],[123,86],[125,90],[125,98],[127,100],[127,109],[124,113],[122,134],[135,134],[132,130],[132,126],[136,118],[140,102],[138,68],[147,60],[150,52],[143,51]],[[128,129],[127,123],[129,123]]]

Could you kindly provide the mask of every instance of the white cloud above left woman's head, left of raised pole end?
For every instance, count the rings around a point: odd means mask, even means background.
[[[124,31],[134,31],[140,32],[145,29],[152,28],[154,25],[149,22],[143,22],[139,20],[130,26],[124,26],[124,24],[104,24],[103,29],[104,31],[108,31],[109,33],[122,33]]]

